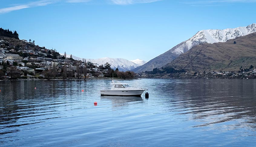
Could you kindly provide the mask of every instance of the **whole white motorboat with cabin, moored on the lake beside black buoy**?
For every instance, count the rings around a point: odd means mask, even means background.
[[[127,83],[120,83],[118,80],[112,80],[110,90],[100,90],[100,95],[107,96],[140,96],[145,90],[143,88],[130,87]]]

